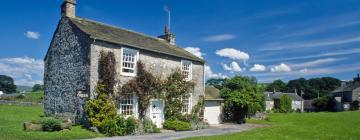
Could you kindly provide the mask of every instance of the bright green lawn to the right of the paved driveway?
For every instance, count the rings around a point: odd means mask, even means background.
[[[270,121],[251,121],[270,127],[221,136],[186,140],[360,140],[360,112],[271,114]]]

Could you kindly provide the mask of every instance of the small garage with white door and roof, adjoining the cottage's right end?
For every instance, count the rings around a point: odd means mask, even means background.
[[[205,87],[204,118],[210,125],[222,123],[223,100],[219,89],[213,86]]]

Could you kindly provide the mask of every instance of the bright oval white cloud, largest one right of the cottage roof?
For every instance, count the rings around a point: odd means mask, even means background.
[[[242,52],[240,50],[234,49],[234,48],[224,48],[221,50],[217,50],[216,54],[222,57],[227,57],[233,60],[243,60],[247,61],[249,60],[250,56],[249,54]]]

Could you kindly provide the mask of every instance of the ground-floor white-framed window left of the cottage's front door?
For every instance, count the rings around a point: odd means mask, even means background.
[[[120,99],[119,114],[130,116],[136,115],[136,96],[134,94],[125,94]]]

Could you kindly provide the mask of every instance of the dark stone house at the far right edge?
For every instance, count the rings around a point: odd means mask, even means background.
[[[343,81],[340,87],[332,91],[332,96],[337,111],[349,110],[352,102],[360,101],[360,75],[353,81]]]

